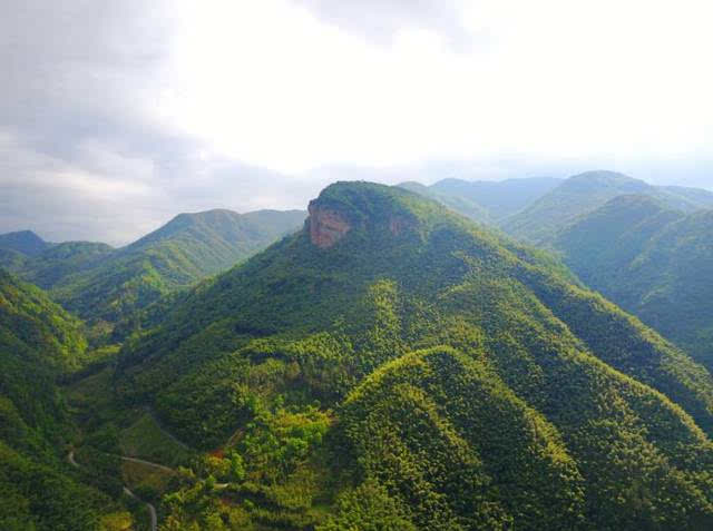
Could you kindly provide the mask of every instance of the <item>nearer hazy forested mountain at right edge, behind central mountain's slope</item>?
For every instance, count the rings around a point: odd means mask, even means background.
[[[588,286],[713,371],[713,210],[686,215],[652,197],[621,196],[554,245]]]

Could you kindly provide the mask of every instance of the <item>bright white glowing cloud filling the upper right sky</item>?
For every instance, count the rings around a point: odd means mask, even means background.
[[[685,154],[713,125],[706,2],[462,2],[468,52],[406,14],[384,47],[281,0],[180,12],[163,116],[283,171]]]

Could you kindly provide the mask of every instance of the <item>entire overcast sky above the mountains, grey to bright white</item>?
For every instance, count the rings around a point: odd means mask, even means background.
[[[123,244],[339,178],[713,188],[711,20],[686,0],[3,0],[0,233]]]

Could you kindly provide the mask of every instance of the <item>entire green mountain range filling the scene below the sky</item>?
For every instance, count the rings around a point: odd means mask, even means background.
[[[594,171],[0,236],[0,528],[713,528],[711,208]]]

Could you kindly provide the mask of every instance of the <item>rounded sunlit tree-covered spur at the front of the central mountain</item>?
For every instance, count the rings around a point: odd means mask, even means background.
[[[452,348],[372,374],[345,403],[344,431],[363,485],[382,485],[414,529],[583,523],[583,480],[556,429]]]

